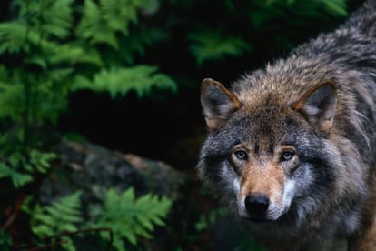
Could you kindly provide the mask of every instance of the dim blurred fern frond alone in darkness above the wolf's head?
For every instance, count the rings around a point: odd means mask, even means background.
[[[241,37],[224,36],[220,30],[193,32],[188,35],[188,39],[191,41],[189,50],[197,65],[208,60],[223,59],[225,55],[242,55],[244,51],[251,49],[251,45],[247,45]]]

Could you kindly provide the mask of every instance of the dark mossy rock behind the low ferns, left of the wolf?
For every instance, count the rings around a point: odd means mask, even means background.
[[[63,139],[54,150],[59,161],[39,193],[46,204],[80,189],[84,192],[83,205],[90,205],[102,202],[110,187],[121,192],[131,186],[137,196],[153,193],[177,200],[181,196],[179,187],[186,181],[183,173],[162,161],[111,151],[89,142]]]

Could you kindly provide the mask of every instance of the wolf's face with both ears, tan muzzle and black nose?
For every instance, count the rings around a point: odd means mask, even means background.
[[[288,212],[299,217],[313,209],[312,198],[331,189],[334,174],[322,138],[335,112],[332,85],[318,85],[289,102],[272,93],[233,94],[206,79],[202,105],[210,132],[198,174],[242,218],[276,221]],[[306,208],[299,208],[300,200]]]

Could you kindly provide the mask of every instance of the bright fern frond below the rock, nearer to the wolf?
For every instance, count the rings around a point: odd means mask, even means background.
[[[154,226],[164,226],[163,218],[167,216],[172,201],[165,197],[146,194],[135,198],[131,187],[118,194],[109,189],[106,194],[104,208],[101,212],[92,212],[94,221],[89,227],[108,226],[114,232],[114,247],[124,250],[124,239],[130,244],[137,244],[137,237],[152,238]],[[104,239],[108,238],[103,233]]]

